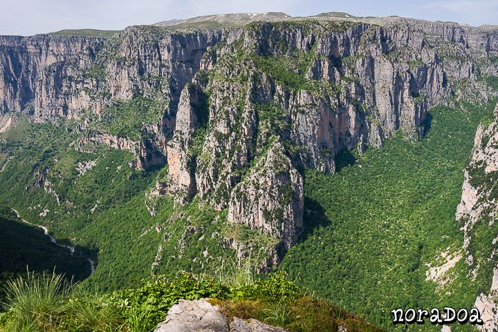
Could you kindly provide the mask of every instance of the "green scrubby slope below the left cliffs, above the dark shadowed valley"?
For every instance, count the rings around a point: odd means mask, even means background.
[[[74,257],[67,263],[66,249],[59,252],[57,247],[53,253],[50,247],[44,248],[44,252],[54,254],[54,260],[60,259],[57,272],[75,274],[80,279],[79,270],[71,269],[71,262],[84,263],[79,267],[89,273],[86,257],[90,257],[97,268],[83,284],[98,284],[102,291],[112,291],[137,286],[140,278],[150,274],[172,276],[180,270],[216,273],[222,262],[228,265],[237,261],[235,251],[223,242],[224,234],[235,233],[225,222],[226,212],[214,211],[197,200],[174,208],[170,197],[147,198],[156,178],[164,177],[164,170],[134,170],[129,166],[133,155],[122,150],[91,145],[78,148],[80,137],[71,126],[32,124],[19,135],[21,141],[7,139],[0,145],[0,167],[6,165],[0,183],[10,189],[1,191],[0,206],[15,208],[28,222],[48,227],[57,242],[75,245]],[[9,161],[12,156],[15,163]],[[40,184],[40,178],[45,183]],[[30,190],[26,190],[28,187]],[[155,211],[154,215],[147,207]],[[9,222],[8,226],[12,232],[27,228],[19,222]],[[245,236],[246,231],[237,232]],[[39,242],[49,242],[37,229],[33,232]],[[265,239],[252,238],[264,244]],[[47,260],[47,266],[41,269],[23,259],[12,269],[24,271],[27,264],[33,271],[52,271],[54,263]]]

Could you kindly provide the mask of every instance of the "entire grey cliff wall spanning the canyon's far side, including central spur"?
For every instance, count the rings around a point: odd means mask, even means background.
[[[0,37],[0,132],[19,114],[77,119],[79,148],[128,150],[145,170],[167,164],[151,195],[227,209],[230,222],[285,250],[302,228],[301,170],[335,173],[342,150],[380,148],[396,130],[418,139],[431,106],[454,95],[486,101],[480,78],[497,74],[496,28],[270,21],[134,26],[109,39]]]

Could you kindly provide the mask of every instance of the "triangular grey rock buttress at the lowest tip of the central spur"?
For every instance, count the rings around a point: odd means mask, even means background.
[[[282,240],[289,248],[302,228],[304,185],[275,141],[250,175],[234,187],[228,204],[228,221],[245,224]]]

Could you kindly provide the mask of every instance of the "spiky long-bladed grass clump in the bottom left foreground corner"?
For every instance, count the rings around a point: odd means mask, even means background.
[[[0,315],[5,332],[119,331],[116,309],[62,275],[28,273],[8,282],[7,311]]]

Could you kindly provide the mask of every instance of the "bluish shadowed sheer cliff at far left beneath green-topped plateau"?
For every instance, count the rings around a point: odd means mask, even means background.
[[[33,113],[33,107],[47,104],[48,91],[60,93],[66,62],[74,57],[91,61],[103,42],[86,37],[1,36],[0,113]],[[64,115],[64,110],[52,114]]]

